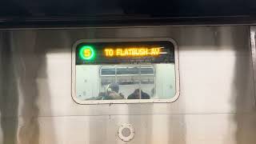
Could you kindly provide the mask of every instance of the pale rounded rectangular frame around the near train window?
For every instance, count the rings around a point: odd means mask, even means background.
[[[158,42],[167,41],[174,45],[174,73],[175,73],[175,95],[168,99],[119,99],[119,100],[86,100],[83,101],[76,97],[76,47],[82,42]],[[122,66],[122,64],[120,64]],[[74,102],[81,105],[95,104],[127,104],[127,103],[170,103],[175,102],[180,94],[179,68],[178,68],[178,45],[172,38],[99,38],[99,39],[80,39],[74,43],[71,51],[71,97]],[[155,71],[154,71],[155,74]],[[101,74],[99,74],[101,77]],[[155,83],[154,83],[155,84]]]

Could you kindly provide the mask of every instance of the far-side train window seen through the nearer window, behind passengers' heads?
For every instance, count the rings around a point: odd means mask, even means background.
[[[150,95],[146,94],[154,94],[154,66],[102,66],[100,75],[101,92],[112,83],[117,83],[120,94],[126,99],[150,99]],[[134,90],[141,90],[141,93],[135,97]]]

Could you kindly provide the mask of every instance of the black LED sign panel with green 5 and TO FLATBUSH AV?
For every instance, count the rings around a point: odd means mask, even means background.
[[[81,42],[76,46],[76,64],[171,63],[172,42]]]

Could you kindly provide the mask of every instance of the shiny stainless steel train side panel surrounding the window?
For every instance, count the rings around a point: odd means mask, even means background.
[[[254,26],[0,30],[2,144],[255,144]],[[172,38],[180,94],[170,103],[80,105],[71,49],[80,39]],[[123,142],[118,128],[134,127]]]

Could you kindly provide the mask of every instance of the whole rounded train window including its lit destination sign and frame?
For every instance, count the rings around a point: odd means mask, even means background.
[[[81,104],[174,102],[178,50],[169,38],[80,40],[72,51],[72,97]]]

